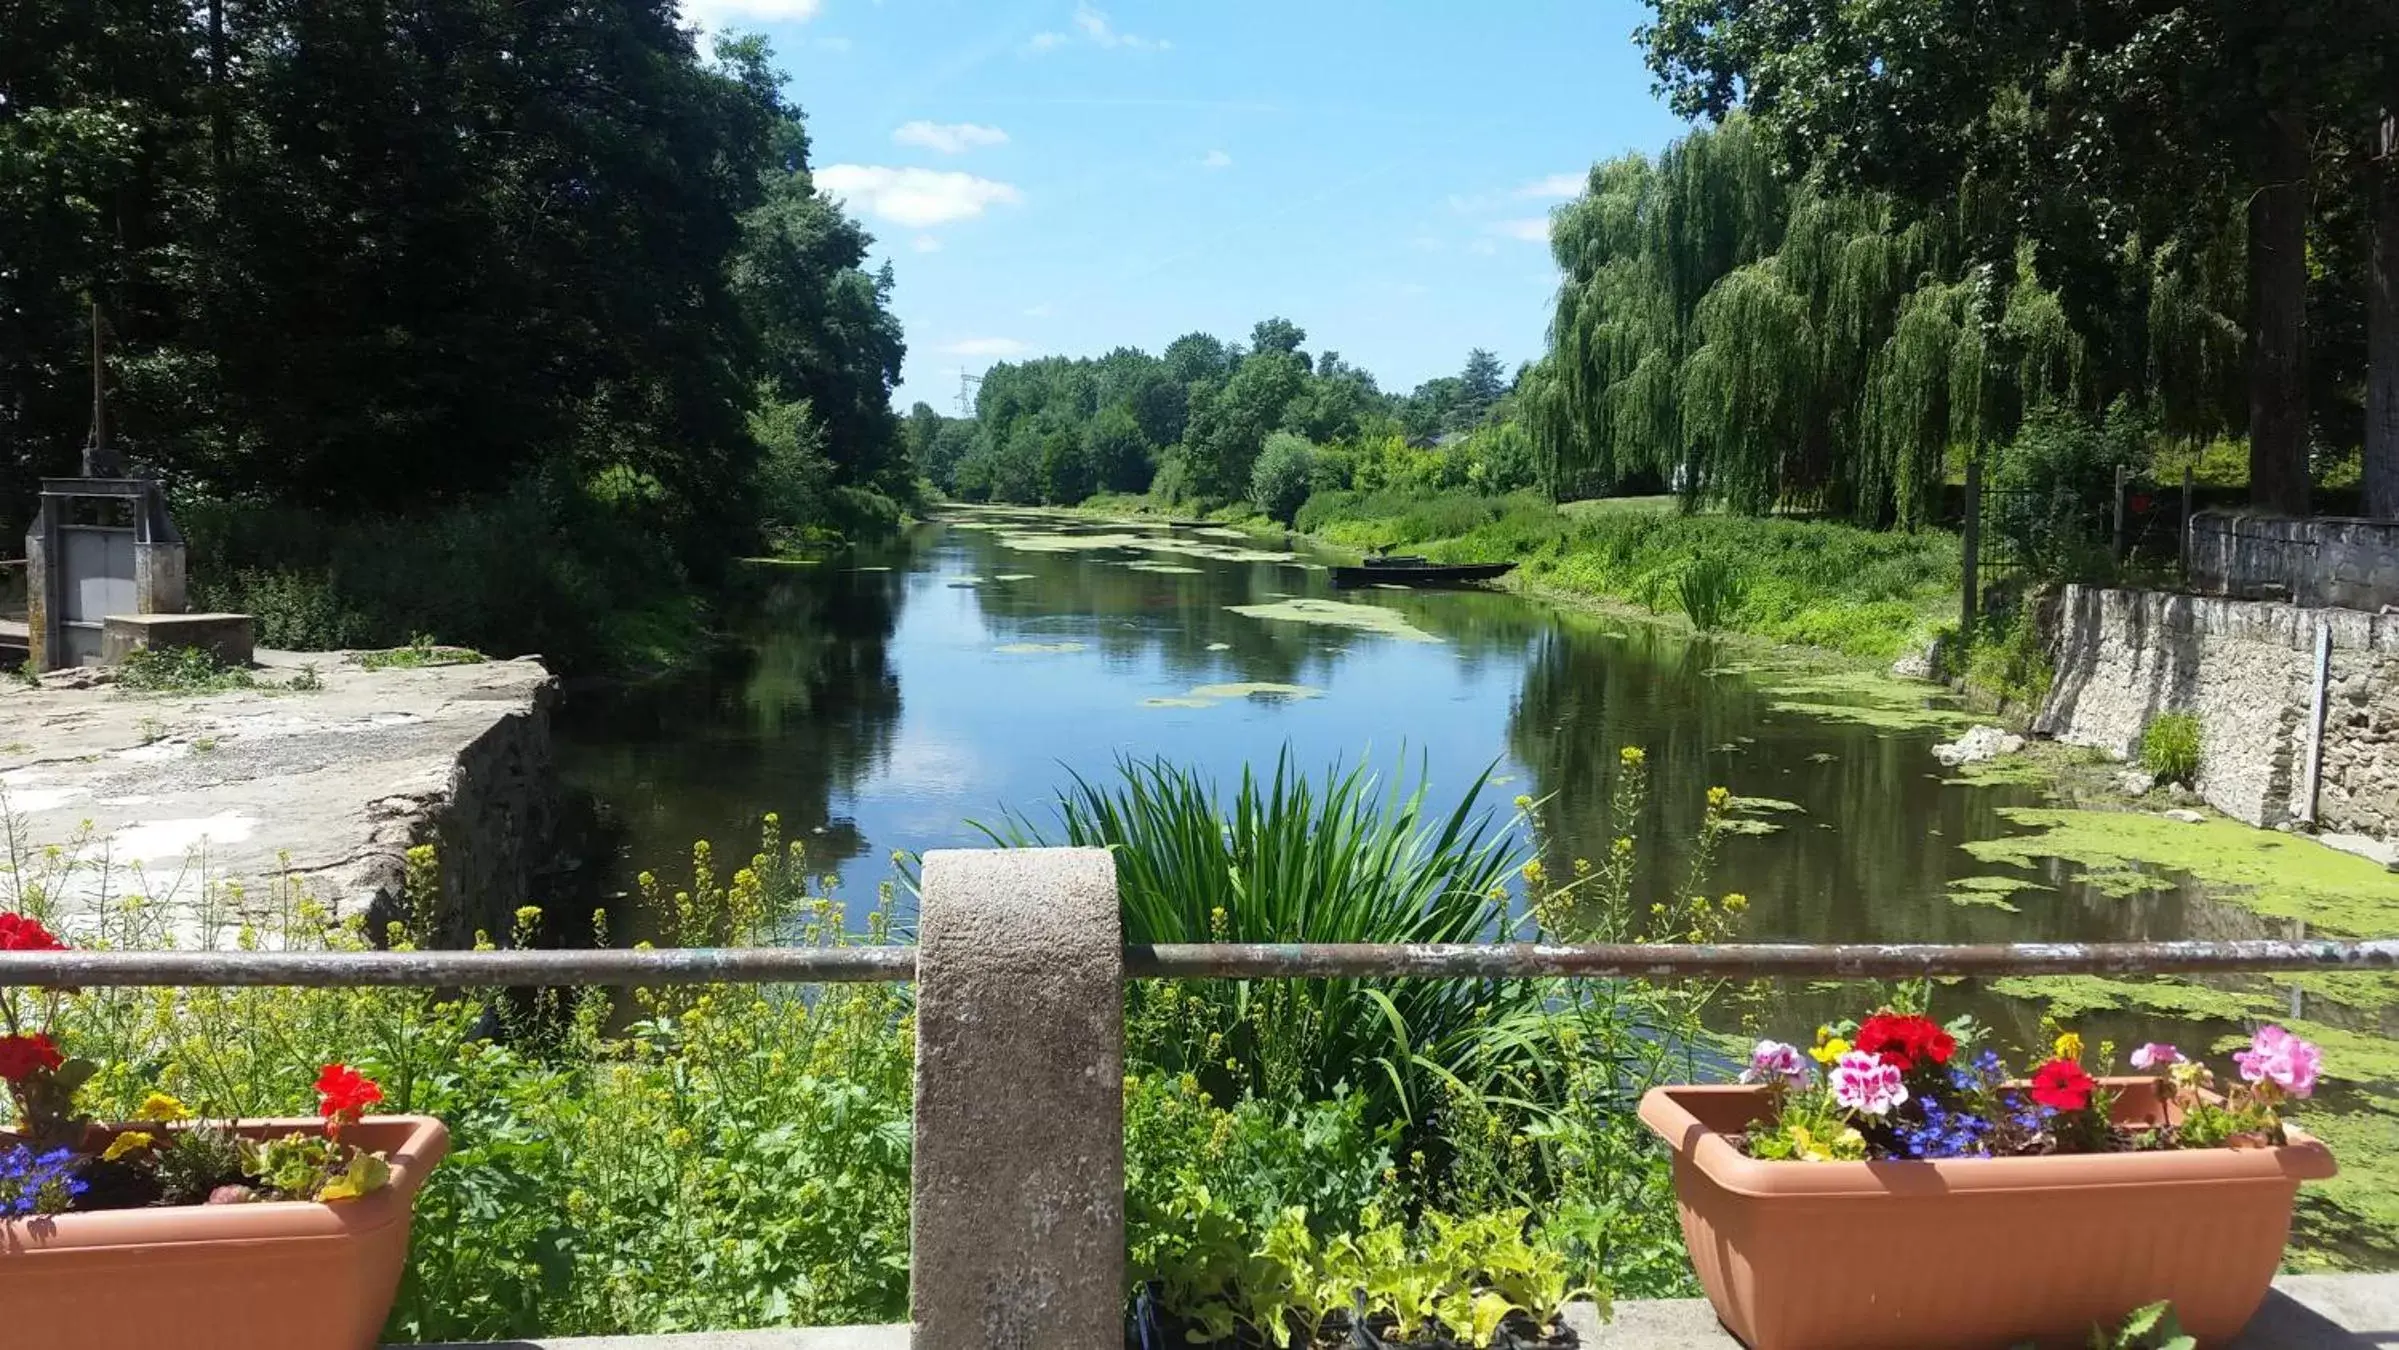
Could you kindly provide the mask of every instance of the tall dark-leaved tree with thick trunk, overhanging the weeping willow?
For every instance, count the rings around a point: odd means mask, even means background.
[[[2308,146],[2341,89],[2322,74],[2358,46],[2351,7],[1653,2],[1643,41],[1677,110],[1749,108],[1794,173],[1922,209],[2015,201],[2015,230],[2068,254],[2092,237],[2159,247],[2245,201],[2250,492],[2305,511]],[[1962,201],[1960,182],[1984,192]]]

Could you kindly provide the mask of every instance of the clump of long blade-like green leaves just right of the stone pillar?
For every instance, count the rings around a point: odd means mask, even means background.
[[[1164,760],[1075,777],[1053,825],[1010,815],[1005,846],[1116,854],[1128,942],[1480,942],[1507,928],[1526,854],[1478,808],[1432,810],[1425,782],[1365,765],[1216,782]],[[1367,1098],[1377,1125],[1423,1125],[1449,1084],[1490,1069],[1490,1033],[1538,1005],[1511,981],[1185,981],[1132,995],[1137,1060],[1195,1074],[1216,1101],[1298,1091]]]

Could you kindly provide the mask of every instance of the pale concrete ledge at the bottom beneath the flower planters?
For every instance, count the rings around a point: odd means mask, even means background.
[[[1622,1302],[1612,1321],[1600,1321],[1598,1309],[1581,1304],[1567,1309],[1567,1326],[1593,1350],[1739,1350],[1742,1345],[1715,1326],[1706,1300]],[[828,1326],[501,1340],[439,1350],[907,1350],[907,1326]],[[2257,1321],[2229,1350],[2399,1350],[2399,1276],[2284,1276]]]

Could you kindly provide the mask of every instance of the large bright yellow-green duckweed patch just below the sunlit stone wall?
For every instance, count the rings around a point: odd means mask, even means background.
[[[2399,928],[2399,873],[2303,834],[2219,818],[2185,825],[2140,810],[2003,806],[2001,815],[2032,834],[1977,839],[1965,844],[1967,854],[2020,868],[2034,858],[2080,863],[2104,894],[2157,890],[2157,873],[2171,870],[2253,914],[2303,918],[2325,933]],[[2147,880],[2133,882],[2135,875]]]

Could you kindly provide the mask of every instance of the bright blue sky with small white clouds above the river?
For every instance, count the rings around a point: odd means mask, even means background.
[[[1636,0],[684,0],[763,31],[897,271],[900,405],[960,369],[1245,338],[1384,388],[1540,355],[1547,211],[1682,125]]]

